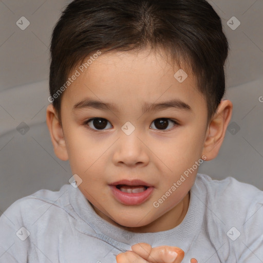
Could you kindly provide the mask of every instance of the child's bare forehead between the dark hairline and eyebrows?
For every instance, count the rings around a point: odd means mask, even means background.
[[[196,78],[187,69],[173,67],[165,58],[164,54],[149,50],[102,53],[90,59],[86,68],[82,64],[84,70],[82,66],[72,71],[77,70],[79,76],[66,89],[64,103],[73,108],[86,98],[118,109],[140,104],[144,110],[145,102],[167,99],[187,105],[203,103]]]

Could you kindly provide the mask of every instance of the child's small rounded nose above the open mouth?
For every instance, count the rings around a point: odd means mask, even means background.
[[[115,144],[112,161],[115,165],[145,166],[149,162],[148,151],[136,130],[130,135],[120,131],[120,138]]]

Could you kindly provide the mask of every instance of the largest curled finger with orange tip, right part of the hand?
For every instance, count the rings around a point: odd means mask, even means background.
[[[153,248],[148,261],[158,263],[180,263],[184,257],[184,251],[178,247],[160,246]]]

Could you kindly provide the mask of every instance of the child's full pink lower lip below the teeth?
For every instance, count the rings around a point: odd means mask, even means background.
[[[116,186],[110,185],[112,194],[114,197],[126,205],[139,205],[146,201],[146,199],[151,195],[154,191],[154,187],[148,187],[145,191],[141,193],[125,193],[119,190]]]

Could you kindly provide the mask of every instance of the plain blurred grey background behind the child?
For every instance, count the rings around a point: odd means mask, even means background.
[[[0,1],[0,215],[18,198],[59,190],[72,176],[69,163],[54,155],[45,122],[51,31],[69,2]],[[199,173],[232,176],[263,190],[263,3],[209,3],[230,43],[225,97],[234,111],[218,157],[204,162]],[[25,30],[16,25],[22,16],[30,22]],[[228,26],[237,25],[232,16],[241,23],[235,30]]]

